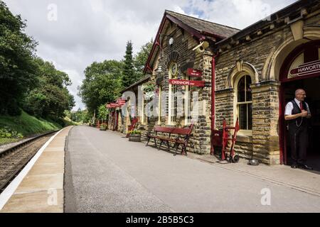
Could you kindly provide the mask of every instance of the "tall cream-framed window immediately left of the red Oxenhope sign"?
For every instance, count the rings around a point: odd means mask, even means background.
[[[169,66],[169,79],[177,79],[177,78],[178,78],[178,65],[176,62],[171,62]],[[178,101],[178,97],[176,96],[176,85],[169,84],[169,124],[176,123],[177,101]]]

